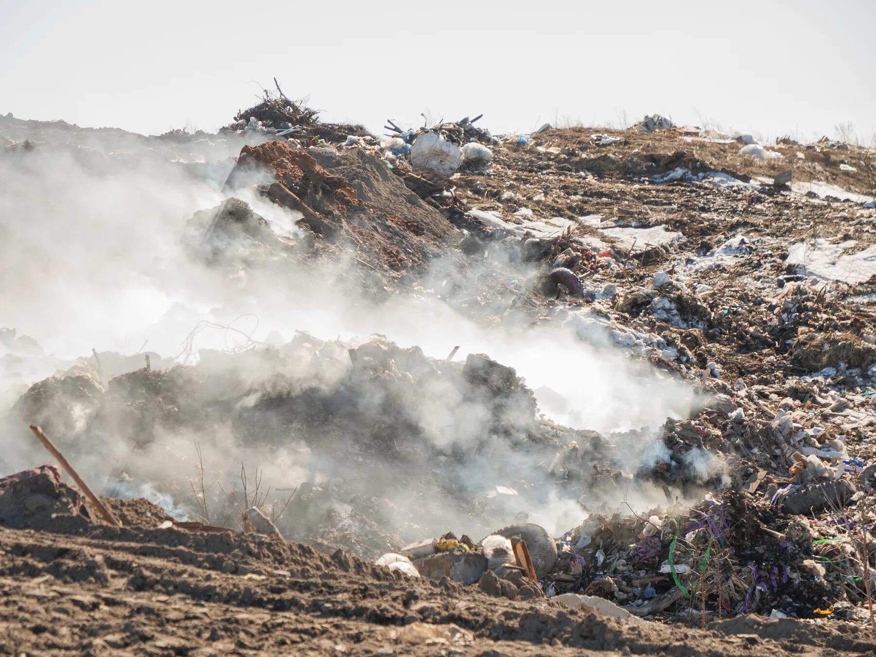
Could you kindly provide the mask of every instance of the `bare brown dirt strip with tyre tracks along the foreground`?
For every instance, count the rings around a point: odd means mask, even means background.
[[[810,654],[876,648],[864,632],[800,627],[802,635],[792,635],[772,624],[740,632],[749,628],[726,623],[702,631],[605,618],[544,598],[512,602],[246,534],[84,529],[0,532],[4,653],[698,656],[797,654],[801,642]]]

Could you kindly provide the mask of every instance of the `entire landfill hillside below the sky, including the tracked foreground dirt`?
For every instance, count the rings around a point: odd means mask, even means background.
[[[392,336],[300,333],[198,350],[193,333],[177,358],[65,362],[4,329],[0,381],[28,385],[0,391],[3,576],[36,587],[17,601],[70,597],[58,604],[80,624],[62,636],[10,606],[9,646],[872,653],[871,150],[656,115],[509,135],[481,117],[392,122],[377,138],[279,93],[219,136],[101,131],[88,148],[70,145],[75,126],[5,117],[3,157],[58,148],[109,170],[131,157],[118,145],[145,148],[209,180],[220,200],[168,240],[244,294],[331,272],[321,293],[428,300],[496,336],[555,328],[621,354],[657,382],[625,399],[631,416],[661,385],[696,403],[597,432],[599,409],[564,408],[464,348],[439,359]],[[45,456],[7,464],[31,424],[121,527],[59,470],[32,470]],[[232,622],[229,605],[295,629]],[[81,629],[91,611],[110,628],[98,638]],[[186,614],[198,623],[159,630]]]

